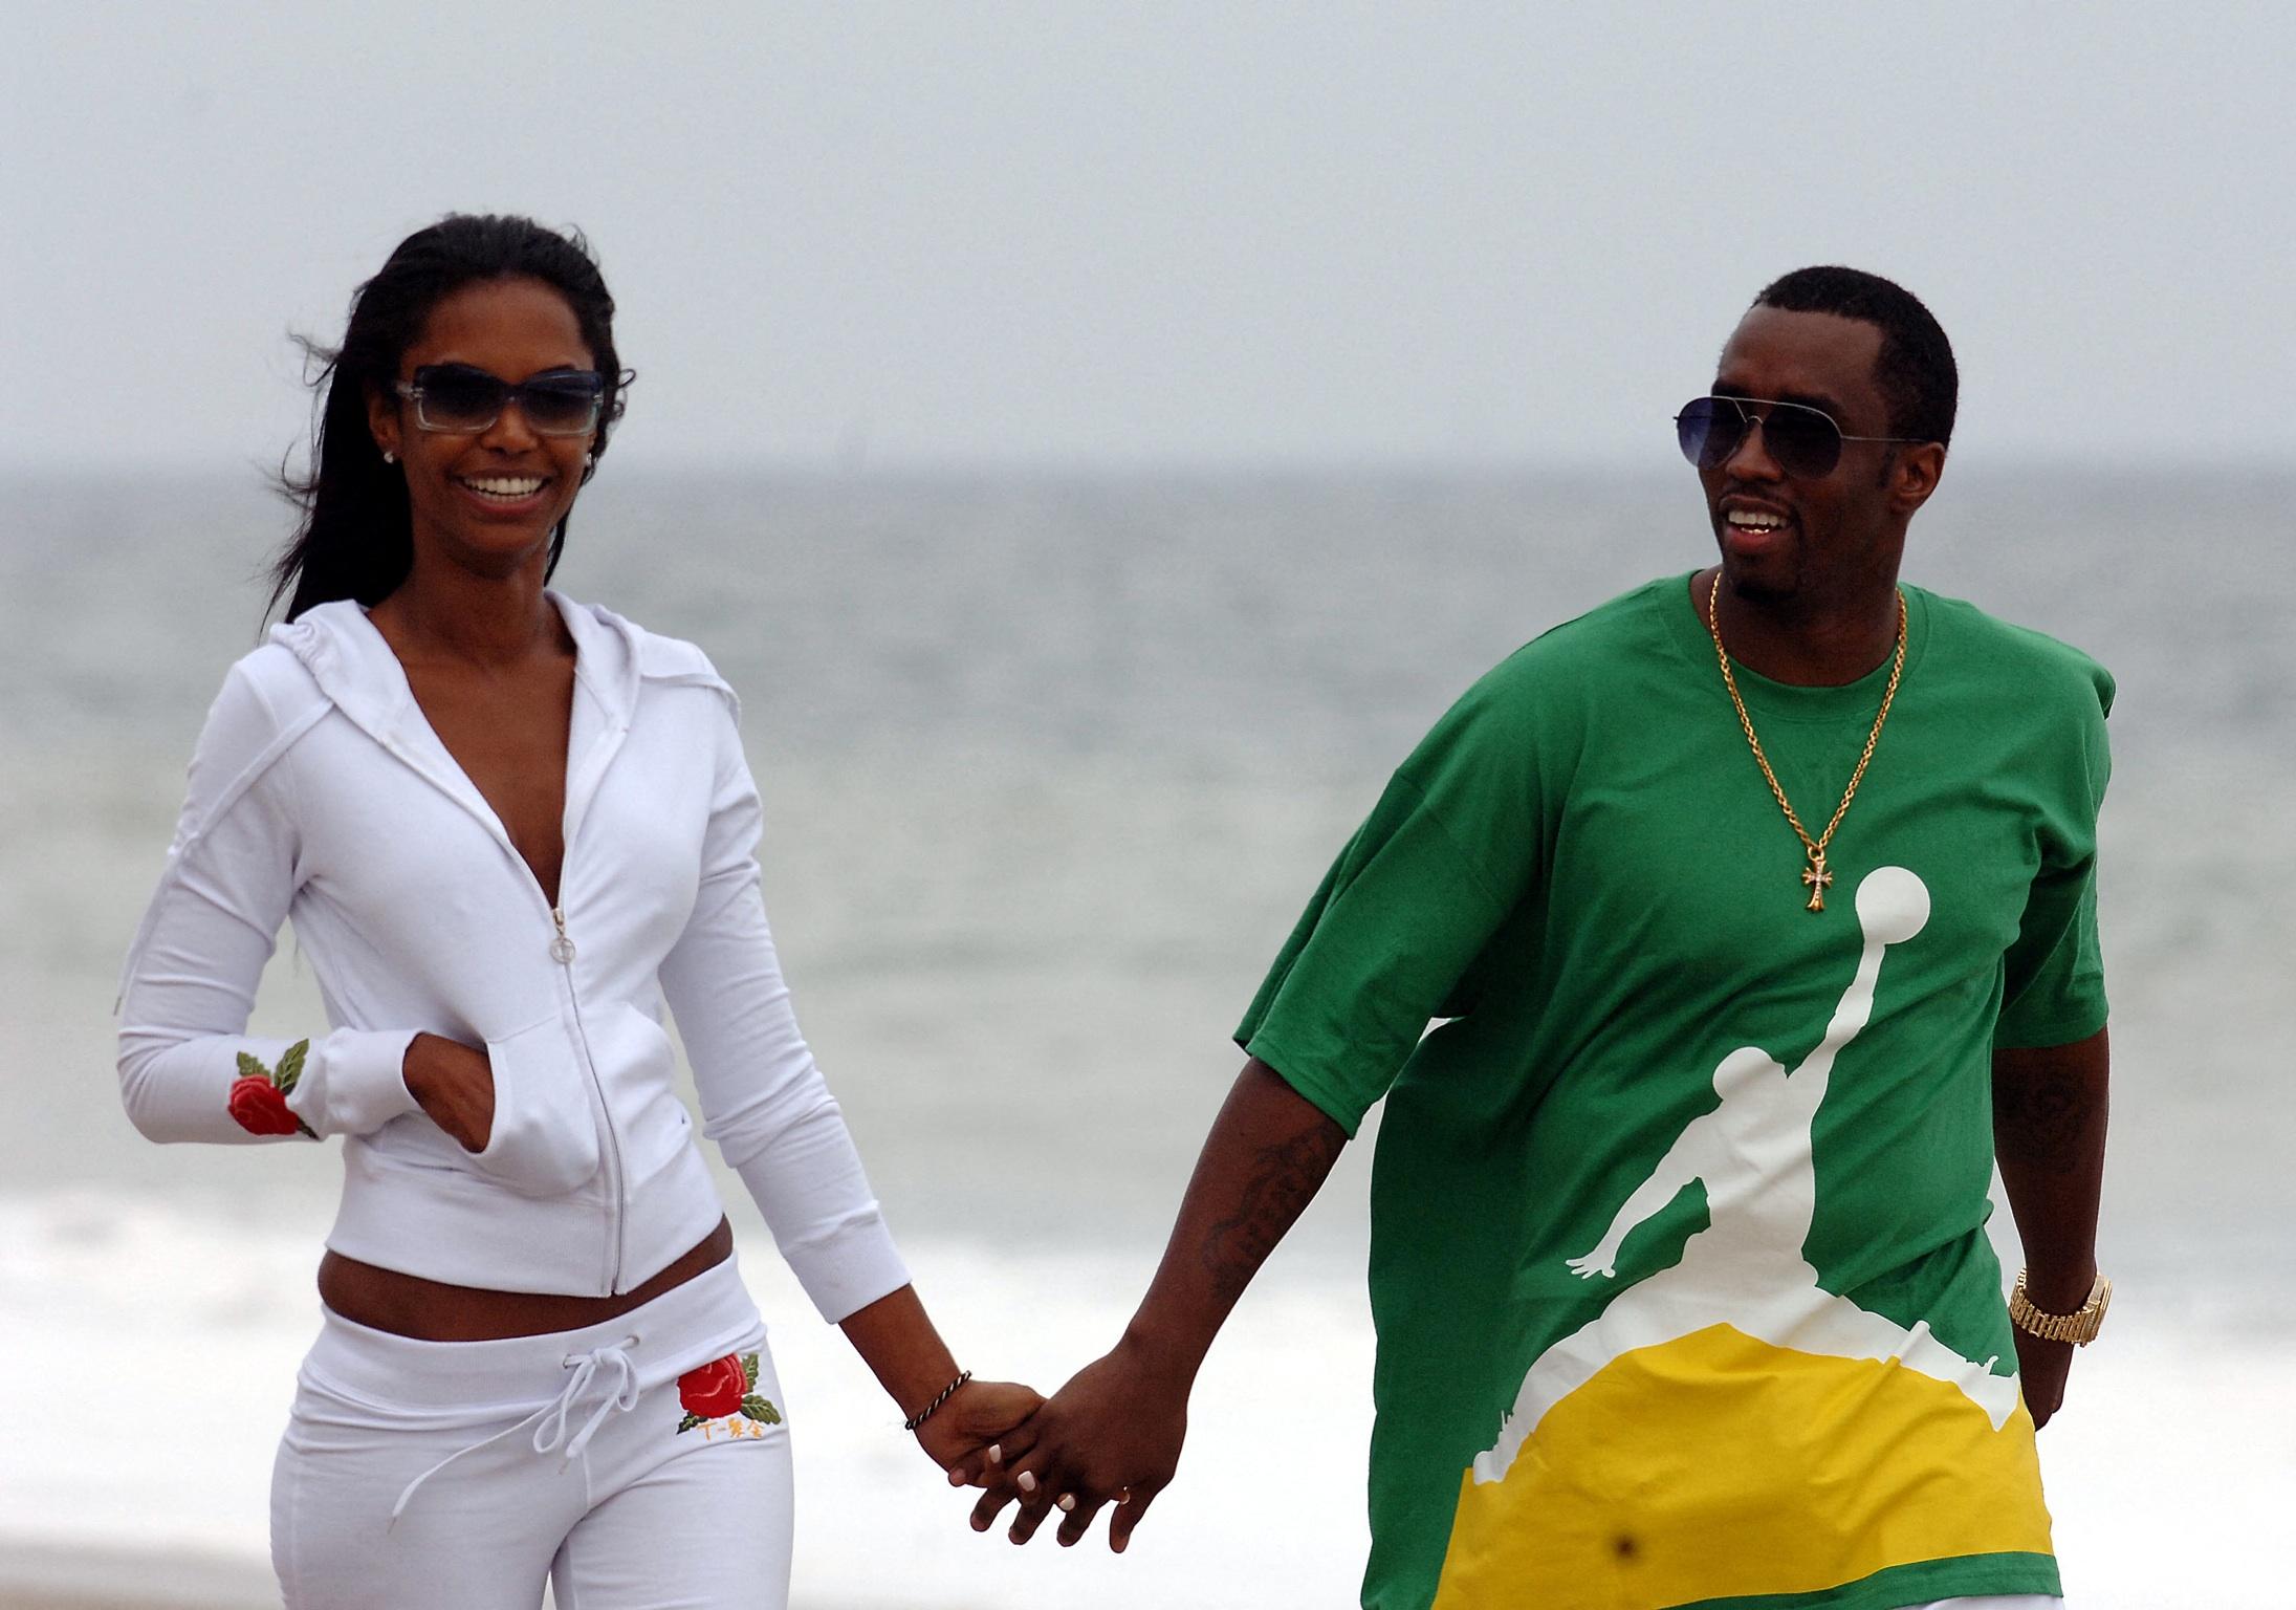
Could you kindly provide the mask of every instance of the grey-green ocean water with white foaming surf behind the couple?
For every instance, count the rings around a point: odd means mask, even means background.
[[[145,1144],[117,1107],[110,1004],[287,521],[253,473],[0,491],[0,1380],[30,1429],[0,1440],[0,1559],[44,1537],[259,1562],[333,1160]],[[2271,586],[2291,496],[2296,475],[1981,471],[1947,480],[1908,551],[1910,581],[2122,682],[2119,1298],[2043,1435],[2082,1605],[2285,1601],[2248,1562],[2266,1507],[2296,1497],[2268,1364],[2296,1316],[2296,634]],[[1052,1385],[1114,1341],[1240,1061],[1226,1034],[1387,769],[1520,641],[1708,551],[1685,475],[608,473],[558,586],[700,641],[739,689],[799,1013],[928,1302],[969,1364]],[[303,1031],[315,1011],[282,942],[257,1022]],[[1006,1562],[964,1532],[753,1252],[783,1378],[820,1394],[801,1592],[1348,1603],[1364,1160],[1215,1350],[1182,1481],[1123,1562],[1038,1562],[1042,1543]],[[41,1385],[129,1357],[181,1360],[195,1390],[83,1412]]]

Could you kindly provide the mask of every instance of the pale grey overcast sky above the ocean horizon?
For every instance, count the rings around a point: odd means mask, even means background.
[[[1963,462],[2296,464],[2282,7],[0,16],[0,469],[276,459],[450,209],[588,230],[629,466],[1662,464],[1830,260]]]

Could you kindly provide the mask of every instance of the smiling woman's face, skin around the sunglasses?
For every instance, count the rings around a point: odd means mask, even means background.
[[[475,280],[443,296],[400,356],[400,381],[413,384],[416,370],[448,363],[517,386],[537,374],[590,370],[597,361],[558,289],[507,278]],[[484,429],[425,429],[416,402],[395,393],[367,397],[367,425],[406,475],[416,563],[445,558],[487,576],[544,563],[551,528],[574,505],[597,434],[546,436],[517,400]]]

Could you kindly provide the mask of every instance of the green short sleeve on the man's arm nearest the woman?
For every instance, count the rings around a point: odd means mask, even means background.
[[[1394,774],[1235,1031],[1348,1135],[1538,880],[1557,733],[1525,655]]]

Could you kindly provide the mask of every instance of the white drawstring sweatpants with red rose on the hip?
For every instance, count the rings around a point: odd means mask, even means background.
[[[689,1412],[680,1376],[751,1353],[751,1412]],[[785,1408],[732,1259],[546,1337],[328,1314],[271,1474],[287,1610],[537,1610],[544,1578],[558,1610],[785,1610]]]

